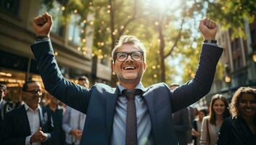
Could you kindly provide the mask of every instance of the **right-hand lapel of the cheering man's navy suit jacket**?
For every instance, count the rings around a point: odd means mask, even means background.
[[[152,131],[155,133],[155,120],[154,120],[154,101],[153,101],[153,92],[146,90],[142,95],[146,101],[146,106],[149,109],[149,116],[152,123]]]

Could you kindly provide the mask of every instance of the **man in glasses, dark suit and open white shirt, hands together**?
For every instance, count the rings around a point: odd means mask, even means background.
[[[1,144],[48,144],[53,126],[50,109],[39,106],[41,85],[30,80],[24,84],[22,91],[25,104],[7,112]]]

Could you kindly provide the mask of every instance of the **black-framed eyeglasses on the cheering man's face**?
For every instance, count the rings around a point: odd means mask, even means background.
[[[133,51],[131,53],[120,51],[115,53],[115,59],[117,59],[119,62],[124,62],[129,55],[131,56],[131,59],[135,61],[140,61],[141,59],[143,59],[143,51]]]

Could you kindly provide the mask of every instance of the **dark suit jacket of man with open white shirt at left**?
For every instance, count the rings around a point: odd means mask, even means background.
[[[51,111],[46,107],[41,107],[40,127],[44,133],[53,133],[51,125]],[[3,131],[1,132],[3,145],[24,145],[25,138],[30,136],[30,125],[25,105],[7,112],[4,117]],[[51,136],[42,145],[48,145]]]

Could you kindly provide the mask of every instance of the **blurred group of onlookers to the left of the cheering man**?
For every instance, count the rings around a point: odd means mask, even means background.
[[[78,84],[88,87],[88,78],[80,76]],[[0,90],[1,144],[80,144],[86,115],[51,94],[43,98],[40,83],[33,80],[24,83],[19,104],[5,99],[6,85],[0,84]]]

